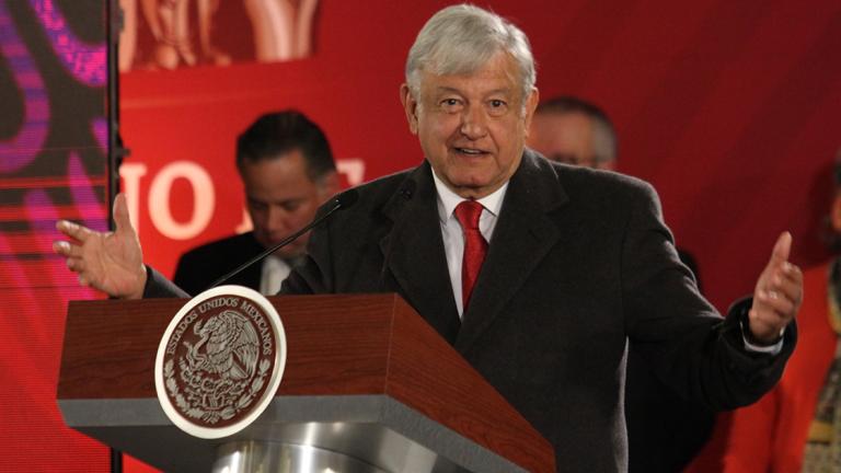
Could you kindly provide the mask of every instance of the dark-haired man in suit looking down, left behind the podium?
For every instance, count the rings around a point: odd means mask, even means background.
[[[237,139],[237,170],[254,229],[195,247],[178,261],[174,281],[196,295],[241,263],[298,231],[338,191],[324,132],[297,111],[268,113]],[[304,253],[309,233],[226,284],[274,295]]]

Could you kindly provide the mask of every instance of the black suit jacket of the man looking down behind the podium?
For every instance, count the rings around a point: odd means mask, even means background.
[[[195,296],[263,250],[253,232],[197,246],[181,256],[173,281]],[[251,265],[223,284],[235,284],[260,291],[261,267],[260,264]]]

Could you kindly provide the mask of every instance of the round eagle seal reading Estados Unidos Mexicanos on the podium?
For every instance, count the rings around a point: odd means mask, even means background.
[[[191,299],[158,347],[154,387],[163,412],[200,438],[233,435],[254,422],[280,384],[286,334],[260,292],[220,286]]]

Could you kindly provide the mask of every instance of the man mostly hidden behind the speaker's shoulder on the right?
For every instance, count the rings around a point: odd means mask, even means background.
[[[613,170],[617,135],[608,115],[574,96],[543,101],[534,112],[527,145],[550,160],[594,169]],[[701,281],[692,255],[678,249],[678,257]],[[680,397],[655,376],[632,343],[625,379],[629,471],[679,472],[710,438],[715,415],[703,404]]]

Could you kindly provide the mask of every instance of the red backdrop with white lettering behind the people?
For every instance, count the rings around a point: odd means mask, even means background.
[[[321,124],[346,184],[418,163],[398,88],[414,35],[447,3],[324,0],[309,58],[124,74],[124,184],[147,261],[171,274],[184,250],[238,228],[233,140],[260,113],[298,107]],[[544,97],[579,95],[612,116],[620,171],[659,191],[719,309],[752,289],[784,229],[795,261],[826,256],[816,229],[841,145],[837,0],[479,3],[530,36]],[[220,44],[247,45],[224,24]]]

